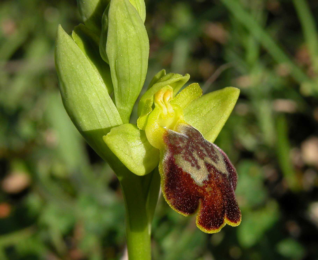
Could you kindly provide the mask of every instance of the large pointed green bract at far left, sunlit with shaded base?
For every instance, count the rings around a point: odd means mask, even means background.
[[[107,149],[102,136],[122,121],[101,76],[61,26],[55,64],[66,111],[86,141],[101,154]]]

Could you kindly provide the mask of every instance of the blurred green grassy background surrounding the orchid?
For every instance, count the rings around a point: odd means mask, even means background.
[[[240,226],[204,234],[160,197],[154,260],[317,260],[318,1],[146,4],[146,85],[164,68],[241,90],[216,140],[238,170]],[[57,26],[79,22],[76,0],[0,1],[0,260],[126,259],[118,181],[57,86]]]

